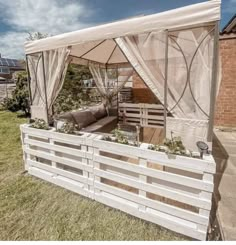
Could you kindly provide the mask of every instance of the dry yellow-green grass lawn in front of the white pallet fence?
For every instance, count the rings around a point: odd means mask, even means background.
[[[23,172],[19,125],[0,111],[0,240],[186,240]]]

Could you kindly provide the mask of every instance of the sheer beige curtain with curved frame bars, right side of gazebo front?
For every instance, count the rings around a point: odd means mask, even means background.
[[[167,107],[176,118],[208,119],[214,34],[211,30],[212,26],[169,33]],[[121,37],[116,42],[164,104],[166,32]]]

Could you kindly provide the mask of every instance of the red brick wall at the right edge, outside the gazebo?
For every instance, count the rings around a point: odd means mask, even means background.
[[[216,101],[215,126],[236,127],[236,36],[220,39],[222,80]]]

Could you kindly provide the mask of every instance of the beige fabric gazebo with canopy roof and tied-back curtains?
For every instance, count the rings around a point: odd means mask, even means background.
[[[49,121],[69,63],[88,65],[98,86],[104,84],[101,68],[130,66],[164,105],[165,135],[173,131],[189,148],[198,140],[211,147],[220,4],[212,0],[26,42],[32,116]]]

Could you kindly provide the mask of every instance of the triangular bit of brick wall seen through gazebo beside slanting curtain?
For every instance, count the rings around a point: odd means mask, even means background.
[[[156,104],[159,103],[156,96],[146,86],[139,75],[134,72],[133,74],[133,102],[134,103],[148,103]]]

